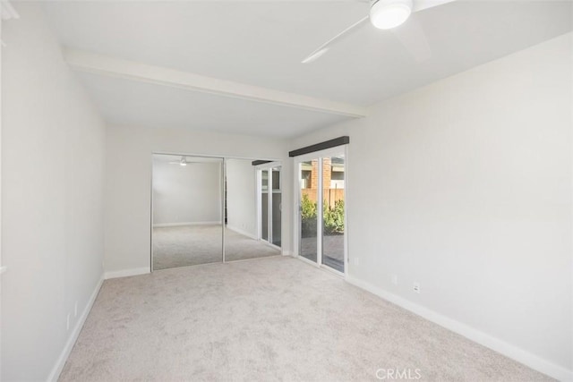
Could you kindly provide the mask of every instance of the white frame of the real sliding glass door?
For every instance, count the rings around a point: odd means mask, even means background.
[[[301,217],[300,213],[302,210],[302,200],[301,200],[301,165],[303,162],[318,160],[318,174],[317,174],[317,181],[318,181],[318,197],[322,199],[323,195],[323,179],[322,179],[322,159],[324,157],[336,157],[337,155],[343,154],[345,158],[345,191],[344,191],[344,222],[345,222],[345,229],[344,229],[344,273],[339,272],[338,270],[326,266],[322,264],[322,235],[323,235],[323,224],[322,221],[324,219],[323,213],[323,203],[317,202],[317,219],[316,219],[316,233],[317,233],[317,252],[316,252],[316,262],[304,258],[301,254]],[[293,227],[294,227],[294,251],[295,257],[297,259],[301,259],[309,264],[312,264],[315,267],[321,267],[324,269],[328,269],[330,272],[337,274],[338,276],[344,276],[345,278],[348,276],[348,145],[337,146],[331,149],[324,149],[321,151],[315,151],[310,154],[304,154],[302,156],[298,156],[294,158],[294,196],[295,196],[295,210],[293,219]],[[320,218],[318,218],[320,216]],[[320,236],[319,236],[320,234]]]

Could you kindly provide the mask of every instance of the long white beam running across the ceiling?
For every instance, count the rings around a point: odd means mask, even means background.
[[[124,80],[198,91],[221,97],[246,99],[278,106],[296,107],[333,115],[345,115],[354,118],[361,118],[367,115],[367,108],[363,106],[348,105],[321,98],[286,93],[275,89],[260,88],[244,83],[126,61],[81,50],[64,49],[64,59],[73,70],[79,72],[90,72]]]

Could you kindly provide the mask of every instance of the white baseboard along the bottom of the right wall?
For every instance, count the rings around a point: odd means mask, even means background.
[[[389,293],[377,286],[369,284],[353,276],[346,276],[346,281],[349,284],[353,284],[365,291],[376,294],[384,300],[393,302],[406,310],[410,310],[418,316],[426,318],[433,323],[440,325],[440,327],[445,327],[452,332],[458,333],[458,335],[463,335],[466,338],[469,338],[477,344],[482,344],[483,346],[488,347],[495,352],[500,352],[506,357],[523,363],[531,369],[540,371],[543,374],[547,374],[548,376],[559,379],[560,381],[573,381],[573,370],[565,369],[552,363],[551,361],[544,360],[543,358],[538,357],[531,352],[526,352],[525,350],[515,345],[508,344],[499,338],[493,337],[492,335],[487,335],[475,329],[474,327],[469,327],[455,319],[442,316],[440,313],[424,308],[415,302],[408,301],[394,293]]]

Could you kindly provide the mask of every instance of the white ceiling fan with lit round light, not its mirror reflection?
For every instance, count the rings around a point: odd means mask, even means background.
[[[368,15],[315,49],[304,58],[302,64],[312,63],[312,61],[317,60],[341,39],[348,37],[351,32],[359,30],[359,27],[365,25],[368,20],[380,30],[392,30],[402,45],[406,47],[406,50],[414,55],[416,61],[426,61],[432,56],[432,51],[420,23],[415,19],[411,19],[404,27],[398,30],[395,30],[395,28],[405,23],[411,13],[451,3],[452,1],[455,0],[373,0]]]

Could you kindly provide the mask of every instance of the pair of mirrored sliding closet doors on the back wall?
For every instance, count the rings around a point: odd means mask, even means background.
[[[154,154],[152,270],[280,255],[280,166],[260,162]]]

